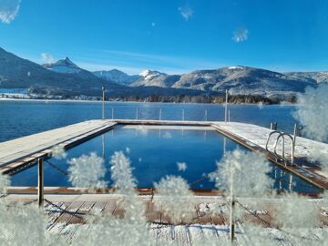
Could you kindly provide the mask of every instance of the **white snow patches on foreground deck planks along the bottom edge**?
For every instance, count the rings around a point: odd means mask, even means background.
[[[74,241],[78,237],[79,231],[83,231],[86,225],[58,223],[51,232],[64,236],[67,241]],[[169,225],[169,224],[149,224],[149,233],[162,245],[229,245],[229,227],[224,225]],[[321,239],[322,229],[316,229],[308,237],[314,238],[313,243]],[[271,239],[272,245],[297,246],[302,245],[295,242],[292,234],[272,228],[261,228],[261,239]],[[244,227],[238,223],[236,228],[236,245],[246,245],[242,242],[248,239],[245,235]],[[210,242],[210,244],[209,244]],[[276,243],[275,243],[276,242]],[[310,245],[310,244],[309,244]],[[319,245],[319,244],[318,244]]]

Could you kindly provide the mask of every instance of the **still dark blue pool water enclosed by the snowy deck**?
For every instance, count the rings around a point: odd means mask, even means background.
[[[213,128],[117,126],[103,135],[68,149],[67,159],[48,159],[64,171],[54,169],[45,162],[45,186],[72,186],[65,175],[69,166],[67,160],[90,152],[96,152],[105,159],[108,170],[105,179],[110,186],[110,157],[115,151],[123,151],[131,160],[139,188],[153,187],[154,182],[158,182],[166,175],[179,175],[188,180],[192,189],[209,190],[214,189],[214,183],[202,177],[216,169],[216,161],[223,157],[224,152],[237,148],[248,151],[230,138],[223,137]],[[179,170],[177,162],[185,162],[187,169]],[[319,191],[313,185],[279,169],[274,164],[272,172],[268,175],[275,179],[273,188],[276,190],[307,193]],[[12,185],[36,186],[36,166],[13,175]]]

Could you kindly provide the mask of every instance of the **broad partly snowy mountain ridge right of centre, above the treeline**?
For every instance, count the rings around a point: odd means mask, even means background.
[[[283,94],[302,92],[305,87],[316,86],[313,79],[295,77],[254,67],[221,67],[196,70],[184,75],[167,75],[155,71],[145,73],[131,86],[189,88],[231,94]]]

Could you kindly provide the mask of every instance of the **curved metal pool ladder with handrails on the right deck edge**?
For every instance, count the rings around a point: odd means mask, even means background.
[[[296,135],[298,133],[298,127],[297,125],[295,124],[294,126],[294,134],[293,136],[291,134],[288,134],[288,133],[285,133],[285,132],[282,132],[282,131],[278,131],[278,130],[273,130],[269,136],[268,136],[268,139],[267,139],[267,142],[266,142],[266,145],[265,145],[265,149],[272,153],[277,161],[278,159],[283,161],[285,166],[291,164],[291,166],[294,165],[294,154],[295,154],[295,144],[296,144]],[[278,135],[275,142],[274,142],[274,145],[273,145],[273,152],[269,149],[269,142],[270,142],[270,139],[272,138],[273,135]],[[285,140],[286,138],[289,138],[291,139],[291,143],[292,143],[292,153],[291,153],[291,160],[289,160],[286,155],[285,155]],[[279,143],[279,140],[282,138],[282,155],[280,155],[278,152],[277,152],[277,147],[278,147],[278,143]]]

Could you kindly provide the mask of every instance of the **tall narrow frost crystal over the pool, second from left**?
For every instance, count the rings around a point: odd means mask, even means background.
[[[119,192],[131,194],[137,187],[137,181],[132,175],[130,160],[122,151],[115,152],[110,159],[111,179],[114,181],[114,187]]]

